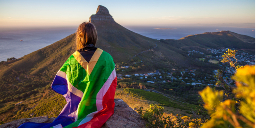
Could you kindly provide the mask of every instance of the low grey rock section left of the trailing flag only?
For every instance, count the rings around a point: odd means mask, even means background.
[[[26,123],[26,122],[48,123],[47,121],[49,119],[51,119],[51,118],[48,118],[48,116],[40,116],[40,117],[27,118],[27,119],[19,119],[19,120],[14,120],[12,122],[2,124],[2,125],[0,125],[0,128],[17,128],[21,124]]]

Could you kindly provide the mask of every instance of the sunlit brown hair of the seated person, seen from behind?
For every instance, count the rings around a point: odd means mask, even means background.
[[[97,42],[97,30],[95,26],[90,22],[84,22],[79,25],[76,30],[76,41],[74,43],[74,49],[80,50],[87,44],[95,45]]]

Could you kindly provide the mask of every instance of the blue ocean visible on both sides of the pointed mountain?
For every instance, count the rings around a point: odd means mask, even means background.
[[[230,28],[230,27],[145,27],[124,26],[140,35],[153,39],[180,39],[191,34],[230,30],[232,32],[255,38],[255,28]],[[75,33],[77,27],[63,28],[4,28],[0,29],[0,61],[7,58],[20,58],[47,45],[53,44],[70,34]],[[173,28],[173,29],[154,29]],[[218,30],[217,30],[218,29]],[[23,40],[23,41],[20,41]]]

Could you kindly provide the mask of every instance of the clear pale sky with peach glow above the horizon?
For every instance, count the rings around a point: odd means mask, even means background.
[[[0,0],[0,27],[78,26],[98,5],[126,26],[255,23],[255,0]]]

